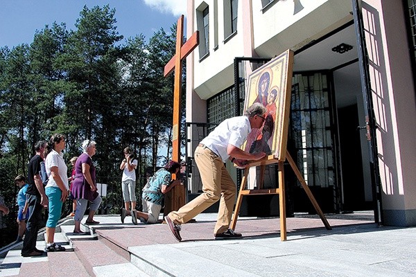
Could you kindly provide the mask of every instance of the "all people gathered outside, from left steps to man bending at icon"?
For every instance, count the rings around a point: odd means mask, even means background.
[[[241,238],[240,233],[229,229],[236,185],[225,168],[225,161],[229,160],[236,166],[244,168],[248,166],[248,160],[266,157],[265,152],[250,153],[241,149],[252,129],[259,129],[263,125],[266,112],[266,107],[255,102],[245,111],[244,116],[224,120],[205,139],[202,139],[195,150],[196,165],[202,180],[202,194],[178,211],[172,211],[164,217],[168,229],[176,240],[182,240],[181,224],[188,222],[218,201],[220,206],[214,227],[214,238]],[[17,242],[23,240],[21,256],[40,256],[44,252],[66,250],[55,244],[54,234],[62,213],[62,205],[68,197],[73,204],[73,210],[69,215],[73,216],[75,222],[73,235],[83,234],[80,223],[88,204],[89,213],[85,224],[100,223],[94,220],[94,215],[102,201],[101,195],[97,192],[96,168],[92,162],[92,157],[96,154],[96,142],[88,139],[83,141],[83,153],[71,159],[70,177],[67,177],[68,168],[63,159],[64,148],[65,136],[62,134],[54,134],[49,142],[38,141],[35,144],[36,154],[28,164],[27,180],[22,175],[15,179],[15,184],[20,189],[17,197],[19,205]],[[133,224],[138,224],[137,220],[146,224],[162,222],[159,220],[159,213],[164,194],[181,184],[180,179],[172,181],[172,175],[177,175],[182,165],[177,161],[169,161],[164,168],[157,170],[155,175],[148,179],[141,195],[143,211],[137,211],[135,195],[137,160],[134,159],[131,148],[125,148],[123,154],[124,159],[120,165],[120,170],[123,170],[121,190],[124,202],[121,208],[121,222],[124,223],[127,215],[131,215]],[[43,171],[46,171],[46,174]],[[0,225],[2,216],[8,214],[8,208],[4,206],[2,200],[0,197]],[[46,247],[40,250],[36,248],[36,240],[37,233],[42,227],[41,213],[44,208],[49,211],[46,222]]]

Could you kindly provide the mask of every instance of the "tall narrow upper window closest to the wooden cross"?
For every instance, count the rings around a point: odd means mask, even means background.
[[[200,31],[199,54],[200,60],[209,54],[209,6],[202,2],[196,9],[197,28]]]

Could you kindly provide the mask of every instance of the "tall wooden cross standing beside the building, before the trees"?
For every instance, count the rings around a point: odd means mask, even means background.
[[[164,77],[175,69],[175,84],[173,91],[173,136],[172,136],[172,159],[180,163],[180,99],[182,88],[182,60],[189,55],[199,44],[198,30],[193,33],[187,42],[183,43],[184,16],[177,19],[176,30],[176,53],[164,67]],[[174,176],[175,178],[175,176]],[[184,192],[171,190],[170,195],[165,195],[164,214],[177,211],[185,204]],[[179,193],[180,195],[175,195]],[[165,211],[166,210],[166,211]],[[170,211],[169,211],[170,210]]]

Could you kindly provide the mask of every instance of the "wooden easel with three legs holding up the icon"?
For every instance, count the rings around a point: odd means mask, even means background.
[[[318,205],[318,202],[316,202],[315,200],[315,197],[313,197],[313,194],[311,193],[309,186],[306,184],[306,181],[302,177],[302,173],[297,168],[295,161],[293,161],[291,155],[287,151],[286,151],[286,160],[291,165],[293,171],[295,172],[297,179],[300,181],[302,188],[304,188],[306,195],[308,195],[309,200],[311,200],[312,205],[315,208],[315,211],[320,216],[325,227],[327,228],[327,230],[331,230],[332,228],[329,225],[327,218],[324,216],[324,213],[322,213],[320,206]],[[264,182],[264,172],[265,172],[266,166],[273,164],[273,163],[278,164],[279,187],[264,189],[263,182]],[[284,161],[279,161],[279,159],[276,159],[274,155],[270,155],[266,159],[263,159],[261,161],[250,162],[250,167],[253,167],[253,166],[261,166],[258,189],[256,190],[246,189],[247,177],[248,177],[248,171],[249,171],[249,168],[246,168],[244,172],[244,177],[241,180],[239,196],[237,197],[236,208],[234,208],[234,217],[232,218],[230,228],[233,230],[236,228],[237,218],[239,217],[239,212],[240,212],[240,207],[241,207],[243,196],[245,195],[279,195],[280,240],[284,241],[286,240],[286,202],[285,202],[285,190],[284,190]]]

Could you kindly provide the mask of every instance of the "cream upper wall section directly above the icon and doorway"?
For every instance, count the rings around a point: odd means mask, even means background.
[[[261,10],[261,1],[253,2],[254,49],[259,56],[274,57],[291,48],[293,51],[352,20],[351,1],[278,1]]]

